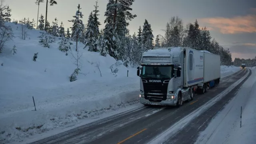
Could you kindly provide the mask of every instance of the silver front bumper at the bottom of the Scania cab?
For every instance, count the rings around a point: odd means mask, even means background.
[[[176,99],[166,99],[162,100],[161,102],[150,102],[145,98],[140,98],[141,104],[148,104],[148,105],[160,105],[160,106],[176,106]]]

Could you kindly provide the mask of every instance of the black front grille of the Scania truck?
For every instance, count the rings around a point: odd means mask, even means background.
[[[168,83],[143,82],[145,99],[150,102],[166,100]]]

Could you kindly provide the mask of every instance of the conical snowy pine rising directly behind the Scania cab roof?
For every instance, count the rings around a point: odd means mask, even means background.
[[[148,20],[145,19],[143,30],[142,30],[142,44],[145,50],[152,50],[154,36],[152,34],[151,25],[148,24]]]

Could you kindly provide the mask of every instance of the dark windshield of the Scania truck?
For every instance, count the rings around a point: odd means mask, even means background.
[[[172,78],[172,66],[143,66],[142,77]]]

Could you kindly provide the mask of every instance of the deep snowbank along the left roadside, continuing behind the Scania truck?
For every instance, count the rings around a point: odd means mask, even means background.
[[[6,44],[0,57],[0,143],[19,142],[34,134],[88,122],[84,120],[91,122],[95,116],[129,110],[135,106],[129,105],[138,103],[139,78],[135,68],[118,65],[109,55],[88,52],[80,43],[81,72],[87,75],[80,74],[78,80],[70,82],[68,77],[76,66],[70,53],[66,56],[58,50],[60,40],[44,48],[38,43],[39,30],[28,30],[28,38],[21,40],[20,24],[8,25],[16,38]],[[12,55],[14,45],[17,54]],[[38,58],[34,62],[36,52]],[[118,68],[116,74],[110,69],[113,64],[114,69]],[[239,67],[221,66],[221,76],[238,70]]]

